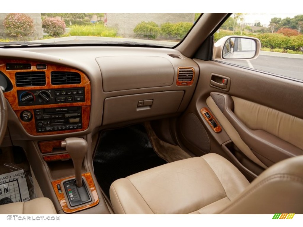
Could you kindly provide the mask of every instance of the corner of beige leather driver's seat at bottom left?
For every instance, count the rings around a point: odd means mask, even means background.
[[[0,206],[0,214],[57,214],[52,200],[37,198],[28,202],[14,202]]]

